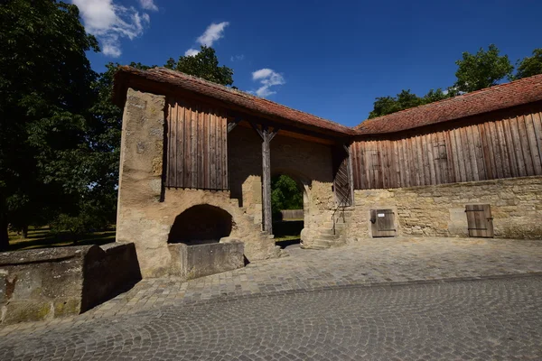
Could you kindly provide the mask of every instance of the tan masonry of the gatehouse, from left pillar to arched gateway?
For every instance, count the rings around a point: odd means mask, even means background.
[[[195,205],[229,212],[229,236],[245,243],[249,261],[280,255],[273,236],[261,231],[261,139],[238,125],[229,134],[229,191],[164,189],[165,97],[128,89],[123,117],[117,242],[134,242],[144,277],[180,275],[167,245],[175,218]],[[280,133],[271,142],[271,170],[286,173],[304,189],[304,242],[310,245],[331,218],[332,153],[320,143]]]

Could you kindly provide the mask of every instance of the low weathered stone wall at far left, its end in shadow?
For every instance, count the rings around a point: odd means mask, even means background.
[[[141,279],[133,244],[0,254],[0,324],[76,315]]]

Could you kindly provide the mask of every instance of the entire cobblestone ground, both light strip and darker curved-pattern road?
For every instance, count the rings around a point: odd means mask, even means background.
[[[191,282],[145,280],[75,318],[0,327],[0,359],[542,357],[540,241],[289,252]]]

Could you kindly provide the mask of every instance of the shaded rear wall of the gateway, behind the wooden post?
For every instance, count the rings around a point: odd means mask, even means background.
[[[262,220],[261,140],[254,130],[238,126],[229,139],[231,197],[256,224]],[[304,191],[304,246],[310,247],[323,228],[330,227],[335,208],[332,190],[332,148],[294,139],[280,132],[271,142],[271,173],[286,174]],[[325,223],[325,224],[324,224]]]

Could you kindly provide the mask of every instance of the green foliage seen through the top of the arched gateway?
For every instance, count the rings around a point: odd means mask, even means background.
[[[283,209],[303,209],[303,192],[285,174],[271,178],[271,211],[277,214]]]

